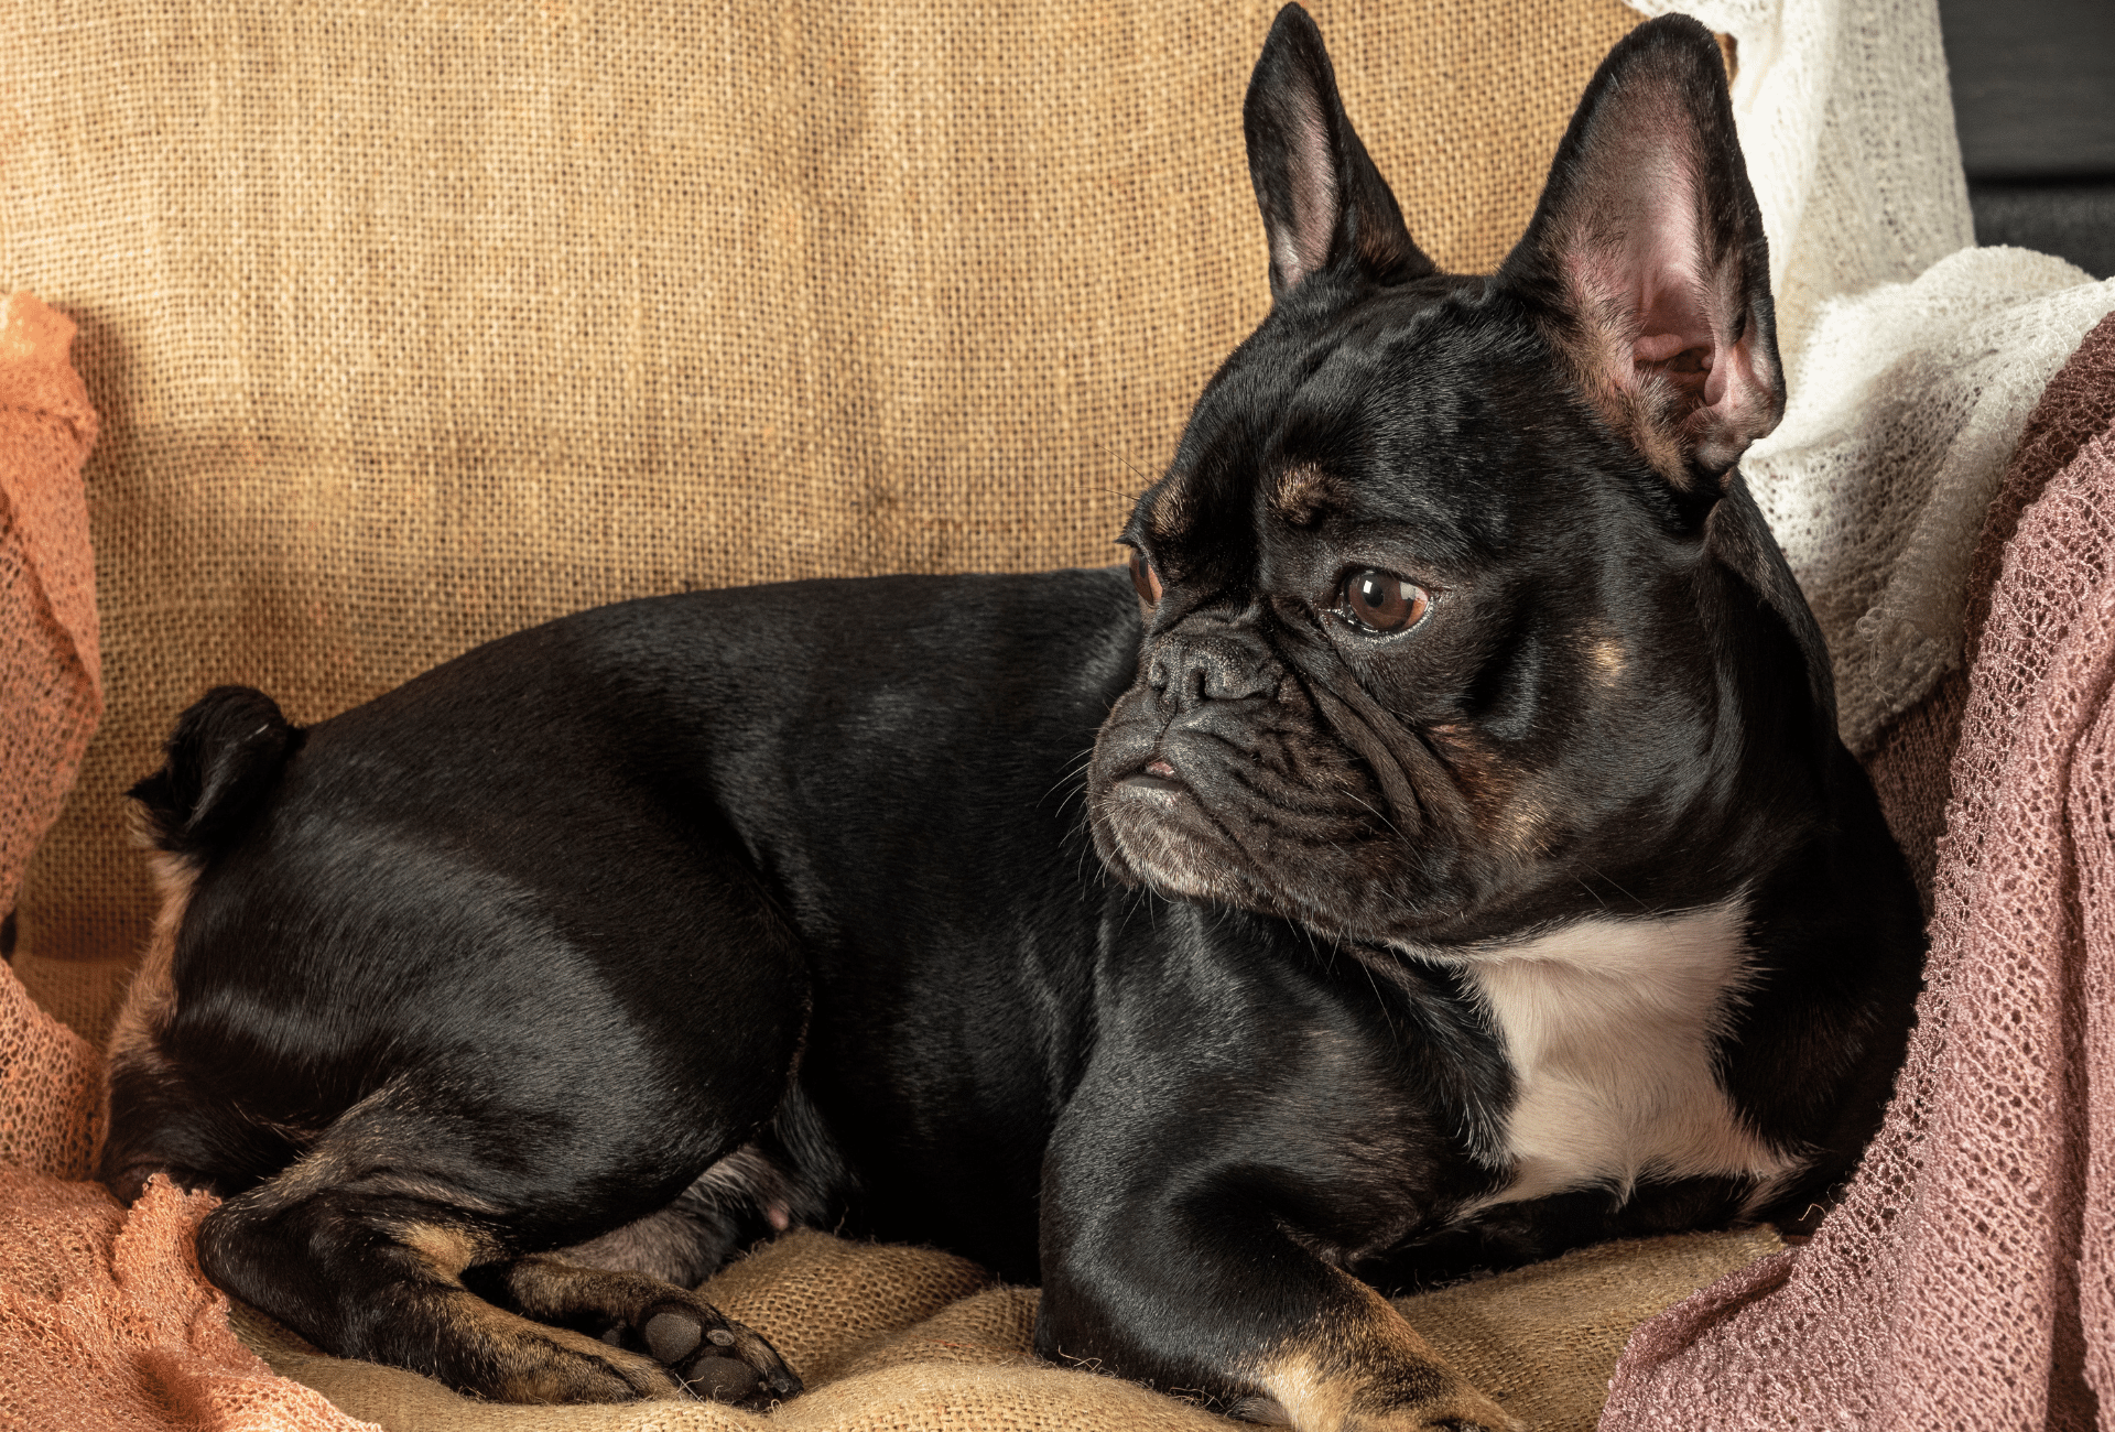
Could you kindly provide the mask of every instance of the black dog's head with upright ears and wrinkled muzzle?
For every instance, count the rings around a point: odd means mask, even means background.
[[[1732,472],[1785,393],[1711,34],[1616,47],[1491,277],[1411,241],[1296,6],[1244,121],[1273,309],[1123,533],[1104,863],[1390,943],[1736,888],[1832,696]]]

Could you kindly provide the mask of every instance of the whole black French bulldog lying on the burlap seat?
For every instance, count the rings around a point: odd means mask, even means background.
[[[218,1284],[493,1398],[789,1396],[683,1288],[819,1225],[1330,1430],[1508,1421],[1385,1290],[1825,1199],[1923,922],[1734,472],[1783,379],[1717,47],[1616,47],[1493,277],[1411,243],[1296,6],[1246,131],[1275,305],[1129,577],[186,711],[110,1187],[216,1189]]]

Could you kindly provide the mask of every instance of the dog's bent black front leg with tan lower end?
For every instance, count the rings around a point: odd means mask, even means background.
[[[1104,1024],[1045,1157],[1036,1352],[1301,1432],[1519,1428],[1332,1261],[1415,1216],[1358,1043],[1212,1013]]]

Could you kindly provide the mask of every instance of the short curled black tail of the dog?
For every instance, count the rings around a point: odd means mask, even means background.
[[[279,781],[302,732],[264,692],[216,685],[176,719],[167,761],[127,791],[157,848],[190,861],[220,850]]]

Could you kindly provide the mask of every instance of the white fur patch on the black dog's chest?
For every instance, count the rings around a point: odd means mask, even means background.
[[[1516,1079],[1495,1149],[1514,1176],[1476,1208],[1705,1174],[1755,1178],[1753,1206],[1800,1168],[1796,1153],[1755,1138],[1711,1072],[1713,1039],[1747,979],[1745,914],[1734,899],[1584,920],[1449,960]]]

